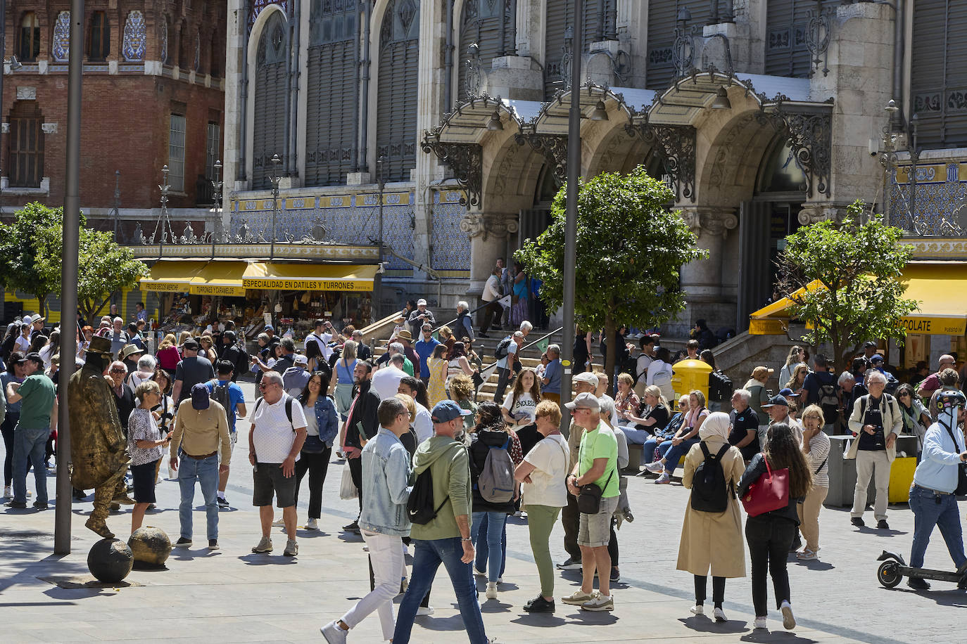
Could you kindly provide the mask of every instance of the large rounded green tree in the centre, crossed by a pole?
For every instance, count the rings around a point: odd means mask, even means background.
[[[550,227],[514,254],[542,280],[541,296],[551,310],[564,303],[566,193],[563,186],[554,197]],[[574,313],[583,326],[604,329],[608,374],[614,373],[618,326],[658,326],[683,311],[687,294],[679,290],[679,270],[708,256],[695,247],[681,211],[667,209],[672,198],[643,166],[629,175],[598,175],[578,190]]]

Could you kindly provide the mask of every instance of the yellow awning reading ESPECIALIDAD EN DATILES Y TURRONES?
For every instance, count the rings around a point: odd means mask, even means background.
[[[253,263],[246,268],[246,289],[291,291],[372,291],[378,266]]]

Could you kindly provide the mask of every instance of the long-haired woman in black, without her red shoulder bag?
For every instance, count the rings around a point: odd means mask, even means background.
[[[768,468],[768,469],[767,469]],[[772,512],[746,519],[746,540],[752,561],[752,603],[755,606],[754,628],[765,629],[769,614],[767,605],[766,574],[773,577],[776,604],[782,611],[782,626],[786,630],[796,628],[789,601],[789,574],[786,560],[789,549],[799,529],[799,513],[796,504],[806,500],[812,487],[812,471],[795,434],[785,423],[775,423],[766,433],[762,452],[748,463],[739,481],[739,497],[747,494],[749,487],[767,471],[789,470],[789,502]]]

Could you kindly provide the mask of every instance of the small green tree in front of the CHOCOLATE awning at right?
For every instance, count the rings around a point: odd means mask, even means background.
[[[778,260],[792,316],[812,323],[805,338],[812,345],[832,345],[837,373],[866,340],[902,342],[901,319],[918,304],[903,297],[901,282],[913,246],[900,243],[903,232],[883,223],[883,215],[864,221],[863,210],[857,201],[841,219],[800,228],[786,238]],[[816,280],[823,288],[806,288]]]

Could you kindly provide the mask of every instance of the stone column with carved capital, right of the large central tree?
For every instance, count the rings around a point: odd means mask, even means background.
[[[735,323],[735,301],[725,301],[722,274],[724,270],[736,267],[722,266],[722,254],[728,232],[739,225],[735,209],[691,205],[677,208],[682,210],[682,218],[689,230],[698,237],[698,247],[709,252],[707,259],[682,266],[682,291],[687,294],[688,305],[678,320],[690,326],[695,320],[704,318],[713,329],[731,326]],[[686,334],[688,328],[679,331],[675,335]]]

